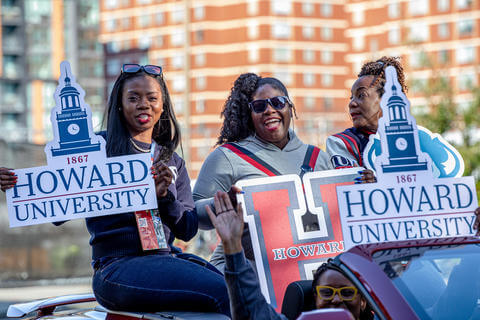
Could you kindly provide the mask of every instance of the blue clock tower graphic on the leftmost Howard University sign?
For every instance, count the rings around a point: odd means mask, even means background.
[[[92,143],[89,129],[90,117],[87,114],[87,107],[84,104],[80,92],[72,85],[68,76],[70,65],[62,63],[65,77],[63,88],[58,94],[61,109],[52,115],[52,122],[57,124],[58,148],[51,147],[52,157],[76,153],[85,153],[100,150],[100,143]],[[58,100],[57,100],[58,101]],[[58,103],[58,102],[57,102]]]

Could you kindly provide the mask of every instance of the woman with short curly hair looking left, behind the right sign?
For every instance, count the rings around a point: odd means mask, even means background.
[[[388,66],[396,69],[402,91],[407,92],[405,74],[399,58],[384,56],[362,66],[358,79],[352,86],[348,104],[353,127],[327,138],[327,152],[336,169],[364,165],[363,150],[369,136],[377,132],[378,119],[382,116],[380,101],[385,92],[385,69]],[[361,180],[366,181],[369,178],[364,175]]]

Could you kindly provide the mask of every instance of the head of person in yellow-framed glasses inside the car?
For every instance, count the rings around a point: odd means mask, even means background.
[[[356,320],[373,319],[365,298],[353,283],[334,264],[322,264],[313,277],[315,308],[342,308],[350,311]]]

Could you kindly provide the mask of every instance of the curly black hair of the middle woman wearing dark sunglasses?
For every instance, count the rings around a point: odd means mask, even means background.
[[[237,142],[255,133],[248,103],[252,101],[257,90],[266,84],[288,97],[287,88],[276,78],[262,78],[255,73],[244,73],[235,80],[220,114],[223,124],[216,145]],[[295,106],[292,104],[291,108],[296,118]]]

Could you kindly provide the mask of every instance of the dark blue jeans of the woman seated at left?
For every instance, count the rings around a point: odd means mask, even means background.
[[[95,264],[93,292],[111,310],[188,310],[230,316],[223,276],[191,254],[103,259]]]

